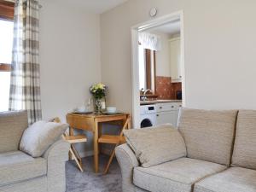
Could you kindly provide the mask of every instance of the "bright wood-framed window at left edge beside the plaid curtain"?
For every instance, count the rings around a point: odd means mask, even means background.
[[[9,109],[14,3],[0,2],[0,111]]]

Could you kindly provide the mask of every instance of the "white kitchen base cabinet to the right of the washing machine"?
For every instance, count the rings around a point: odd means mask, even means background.
[[[156,104],[156,122],[157,125],[170,123],[177,127],[179,109],[182,107],[181,102],[167,102]]]

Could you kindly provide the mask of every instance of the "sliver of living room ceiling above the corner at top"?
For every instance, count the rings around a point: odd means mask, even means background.
[[[61,3],[76,5],[92,13],[102,14],[128,0],[61,0]]]

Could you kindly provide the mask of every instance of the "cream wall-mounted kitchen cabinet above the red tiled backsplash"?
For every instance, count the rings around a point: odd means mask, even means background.
[[[169,40],[172,82],[182,82],[180,38]]]

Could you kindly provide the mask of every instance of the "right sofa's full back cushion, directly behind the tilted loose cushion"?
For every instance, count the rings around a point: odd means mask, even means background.
[[[237,111],[183,108],[179,131],[189,158],[230,166]]]

